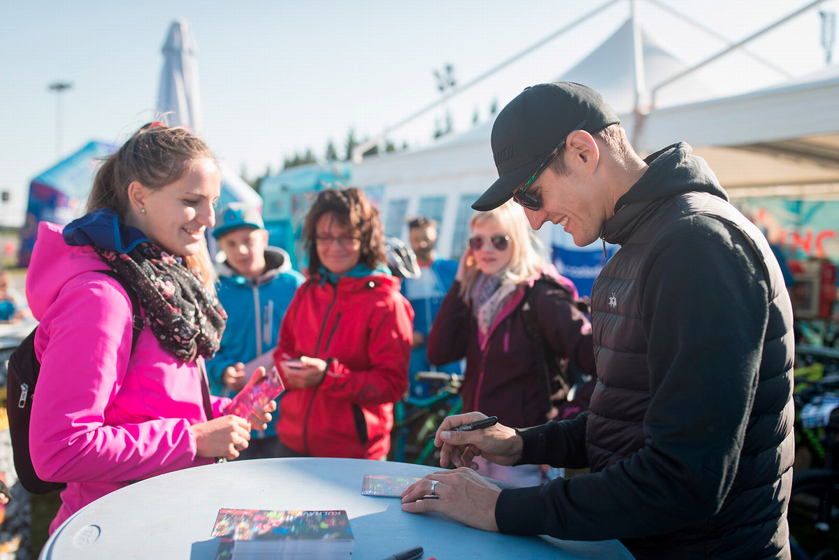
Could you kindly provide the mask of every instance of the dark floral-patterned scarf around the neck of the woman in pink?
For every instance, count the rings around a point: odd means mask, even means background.
[[[227,314],[187,267],[149,241],[128,252],[93,249],[137,292],[146,322],[166,350],[187,362],[216,355]]]

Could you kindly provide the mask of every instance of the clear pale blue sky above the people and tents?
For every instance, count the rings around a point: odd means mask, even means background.
[[[685,62],[723,48],[645,0],[636,0],[649,34]],[[661,0],[732,41],[744,39],[807,0]],[[793,75],[825,65],[820,9],[811,9],[752,47]],[[284,157],[332,139],[343,150],[349,129],[374,137],[440,97],[434,70],[454,65],[466,83],[571,23],[605,0],[25,0],[0,3],[0,190],[25,206],[29,181],[97,139],[121,143],[153,120],[163,67],[161,48],[175,18],[190,24],[198,48],[204,132],[217,156],[253,177],[280,169]],[[627,17],[628,0],[498,72],[450,101],[456,130],[488,117],[524,86],[550,81],[581,60]],[[714,70],[724,71],[726,62]],[[732,63],[733,64],[733,63]],[[719,75],[719,74],[717,74]],[[723,74],[725,75],[725,74]],[[722,91],[783,78],[736,64]],[[61,94],[61,153],[56,153],[55,81]],[[398,143],[430,143],[430,111],[394,132]],[[488,154],[487,154],[488,157]],[[23,210],[21,210],[23,211]]]

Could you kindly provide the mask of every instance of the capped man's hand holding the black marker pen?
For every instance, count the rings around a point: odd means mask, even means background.
[[[471,432],[451,431],[451,428],[486,417],[487,415],[481,412],[466,412],[443,420],[434,439],[436,447],[443,446],[443,449],[440,449],[441,467],[454,464],[456,467],[477,469],[477,464],[472,461],[477,455],[492,463],[503,465],[516,464],[521,459],[524,442],[513,428],[495,424]]]

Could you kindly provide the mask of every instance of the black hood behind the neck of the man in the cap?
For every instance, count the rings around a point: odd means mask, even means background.
[[[644,162],[649,165],[646,172],[618,199],[615,215],[603,225],[602,238],[609,243],[621,243],[639,219],[675,194],[705,192],[728,200],[705,159],[693,155],[684,142],[650,154]]]

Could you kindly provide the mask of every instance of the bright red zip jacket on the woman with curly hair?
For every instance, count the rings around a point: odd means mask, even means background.
[[[319,386],[286,385],[277,433],[314,457],[383,459],[390,449],[393,402],[408,387],[414,310],[392,276],[341,277],[337,287],[311,277],[285,312],[274,361],[326,360]],[[279,369],[279,366],[278,366]]]

